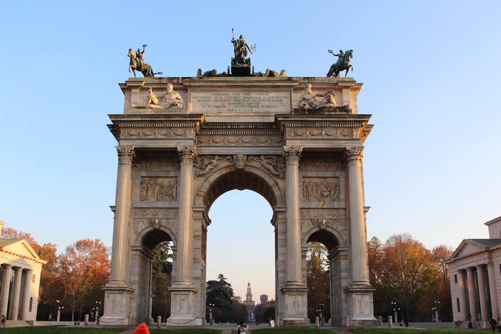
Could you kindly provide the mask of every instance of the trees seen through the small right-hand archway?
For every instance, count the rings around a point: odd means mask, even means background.
[[[322,316],[329,318],[331,308],[328,250],[320,242],[308,242],[307,246],[308,317],[314,319],[317,309],[322,309]]]

